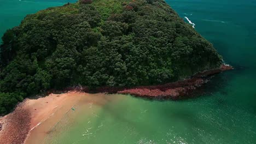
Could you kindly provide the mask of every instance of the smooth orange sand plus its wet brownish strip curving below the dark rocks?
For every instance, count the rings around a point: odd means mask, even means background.
[[[26,104],[26,106],[32,110],[31,113],[32,116],[34,116],[31,119],[31,131],[28,133],[25,141],[26,144],[43,142],[46,135],[53,132],[55,125],[58,124],[62,118],[65,118],[69,111],[73,111],[72,108],[77,112],[77,106],[84,104],[102,106],[110,100],[113,101],[113,99],[109,99],[108,95],[104,93],[89,94],[84,92],[68,92],[60,95],[51,94],[48,97],[48,101],[52,101],[48,103],[50,104],[49,107],[47,104],[43,103],[45,101],[44,98],[43,100],[38,99]],[[47,107],[45,108],[45,106]],[[39,107],[39,111],[42,110],[40,115],[36,112],[38,109],[33,110],[34,107]],[[86,109],[83,109],[83,114],[86,114]],[[39,125],[37,126],[37,124]]]

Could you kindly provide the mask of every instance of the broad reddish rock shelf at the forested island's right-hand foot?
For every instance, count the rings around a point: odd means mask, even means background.
[[[191,79],[166,83],[165,85],[135,87],[118,91],[120,94],[132,94],[138,97],[146,98],[170,98],[173,100],[181,99],[188,96],[196,88],[201,87],[208,82],[210,76],[222,73],[222,71],[233,69],[230,65],[222,65],[219,69],[207,70],[195,74]]]

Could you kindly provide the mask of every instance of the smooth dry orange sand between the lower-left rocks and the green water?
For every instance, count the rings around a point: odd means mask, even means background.
[[[66,112],[78,103],[86,93],[69,92],[65,94],[50,94],[48,97],[27,100],[26,109],[30,110],[30,132],[25,143],[38,143],[43,140],[51,128],[60,121]],[[39,127],[40,126],[40,127]],[[36,139],[35,139],[36,138]]]

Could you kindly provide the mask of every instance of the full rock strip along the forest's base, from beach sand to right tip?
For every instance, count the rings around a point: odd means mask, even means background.
[[[163,98],[163,99],[181,99],[188,96],[195,89],[201,87],[204,83],[208,82],[210,77],[215,74],[222,73],[226,70],[233,69],[228,64],[223,64],[218,69],[206,70],[191,76],[190,79],[166,83],[164,85],[155,86],[137,86],[131,88],[117,88],[117,87],[100,87],[90,90],[88,87],[69,87],[65,91],[83,91],[86,93],[118,93],[118,94],[131,94],[137,97],[144,98]]]

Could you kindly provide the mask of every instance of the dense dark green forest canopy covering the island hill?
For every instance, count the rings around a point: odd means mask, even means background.
[[[164,0],[67,3],[27,15],[2,41],[1,114],[49,89],[160,85],[223,64]]]

